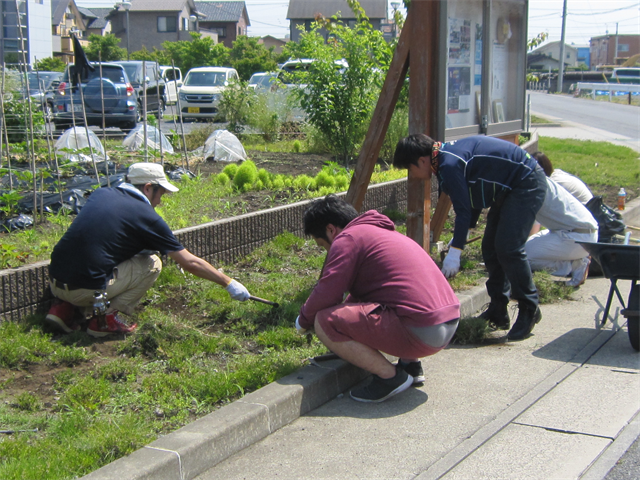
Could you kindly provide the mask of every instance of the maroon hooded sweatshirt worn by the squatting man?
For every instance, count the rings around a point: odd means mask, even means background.
[[[394,308],[407,327],[439,325],[460,317],[460,302],[431,257],[395,231],[375,210],[351,221],[334,239],[322,278],[300,310],[300,326],[343,303],[372,302]]]

